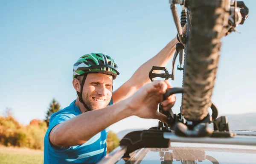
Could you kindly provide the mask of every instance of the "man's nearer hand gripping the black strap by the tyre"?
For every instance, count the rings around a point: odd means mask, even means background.
[[[163,102],[163,109],[169,110],[175,103],[175,96],[169,96],[163,101],[163,94],[171,84],[166,81],[154,81],[144,85],[140,90],[134,93],[128,101],[128,107],[132,110],[133,115],[144,119],[159,119],[167,122],[167,117],[163,113],[157,112],[157,106]]]

